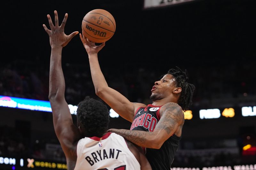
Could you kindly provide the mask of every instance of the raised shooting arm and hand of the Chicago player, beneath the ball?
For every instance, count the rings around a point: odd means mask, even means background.
[[[82,34],[80,34],[80,38],[89,57],[92,81],[96,94],[113,110],[115,110],[116,113],[118,113],[124,119],[132,122],[135,109],[143,104],[134,104],[121,93],[108,87],[103,73],[100,70],[100,64],[98,61],[98,52],[105,46],[105,42],[99,46],[96,46],[94,42],[88,41],[84,35],[82,36]]]

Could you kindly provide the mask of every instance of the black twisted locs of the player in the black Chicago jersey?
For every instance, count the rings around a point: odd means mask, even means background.
[[[187,70],[182,71],[176,66],[176,69],[170,69],[167,74],[174,76],[177,86],[182,88],[178,104],[183,111],[188,110],[188,108],[192,105],[192,97],[196,87],[195,85],[188,83]]]

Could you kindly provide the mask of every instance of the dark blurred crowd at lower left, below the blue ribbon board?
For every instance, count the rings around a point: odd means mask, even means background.
[[[7,125],[0,126],[0,156],[66,161],[56,139],[44,137],[41,140],[34,140]]]

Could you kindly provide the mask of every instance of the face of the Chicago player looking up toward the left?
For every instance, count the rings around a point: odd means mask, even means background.
[[[171,74],[166,74],[161,80],[155,82],[150,99],[153,101],[163,99],[171,95],[175,87],[175,78]]]

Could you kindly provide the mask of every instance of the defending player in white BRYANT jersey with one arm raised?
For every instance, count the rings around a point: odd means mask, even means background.
[[[65,153],[68,170],[151,170],[141,147],[115,133],[107,133],[109,113],[106,105],[86,97],[78,104],[77,127],[73,124],[65,100],[65,80],[61,68],[61,52],[78,32],[64,33],[68,14],[59,26],[57,11],[55,26],[47,15],[51,30],[44,24],[52,47],[50,59],[49,100],[55,133]],[[96,48],[100,50],[102,46]]]

